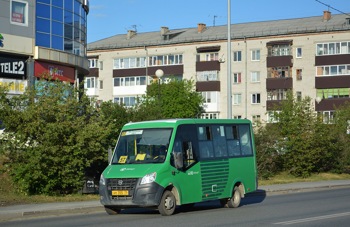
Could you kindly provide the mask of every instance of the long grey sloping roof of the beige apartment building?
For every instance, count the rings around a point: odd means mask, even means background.
[[[331,15],[327,21],[323,21],[323,16],[313,16],[287,20],[231,24],[231,39],[350,30],[350,26],[345,24],[345,19],[348,17],[346,14],[335,14]],[[227,26],[206,27],[201,33],[198,33],[198,28],[173,29],[169,30],[165,35],[169,35],[168,40],[162,40],[161,31],[136,33],[136,35],[133,35],[129,39],[127,39],[126,34],[115,35],[88,43],[87,50],[227,40]]]

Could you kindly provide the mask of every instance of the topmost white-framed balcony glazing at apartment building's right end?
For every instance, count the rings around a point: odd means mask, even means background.
[[[350,41],[335,43],[317,43],[316,55],[349,54]]]

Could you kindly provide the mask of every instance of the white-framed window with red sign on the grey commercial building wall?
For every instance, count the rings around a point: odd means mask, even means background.
[[[12,0],[10,8],[10,23],[28,26],[28,2]]]

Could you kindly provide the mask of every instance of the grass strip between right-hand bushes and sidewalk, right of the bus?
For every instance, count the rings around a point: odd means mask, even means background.
[[[348,180],[350,179],[350,174],[337,174],[337,173],[317,173],[313,174],[310,177],[296,177],[289,174],[287,171],[280,172],[275,176],[267,179],[260,180],[258,182],[259,186],[265,185],[275,185],[275,184],[289,184],[289,183],[301,183],[301,182],[315,182],[322,180]]]

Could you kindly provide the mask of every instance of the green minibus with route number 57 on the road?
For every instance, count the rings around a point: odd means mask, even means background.
[[[163,119],[127,123],[100,178],[108,214],[131,207],[171,215],[175,206],[218,199],[238,207],[257,190],[252,123],[246,119]]]

